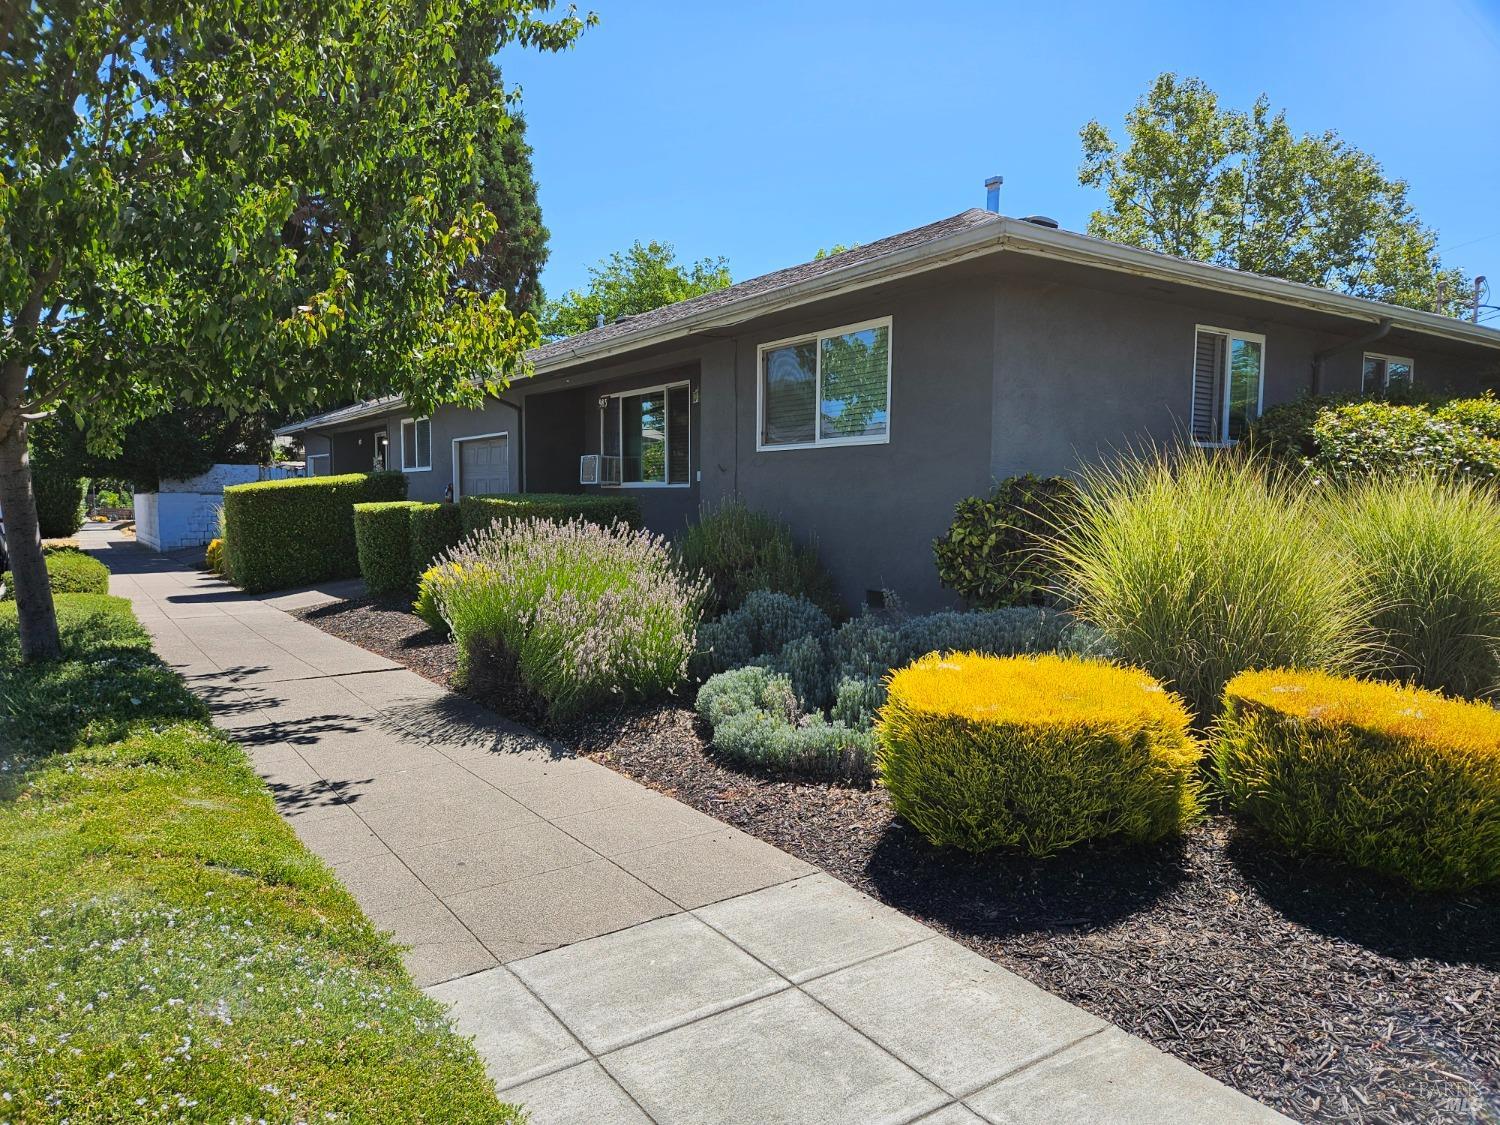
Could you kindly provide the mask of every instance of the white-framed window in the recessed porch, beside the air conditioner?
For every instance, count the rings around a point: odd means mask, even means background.
[[[686,382],[598,400],[602,484],[687,488],[693,464],[693,392]]]

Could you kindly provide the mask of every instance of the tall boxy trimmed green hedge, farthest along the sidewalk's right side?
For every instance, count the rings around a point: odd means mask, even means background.
[[[360,573],[354,506],[405,500],[400,472],[351,472],[224,490],[230,573],[252,594]]]

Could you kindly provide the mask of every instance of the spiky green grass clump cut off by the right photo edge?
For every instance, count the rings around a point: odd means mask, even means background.
[[[1334,542],[1371,606],[1372,670],[1434,692],[1500,688],[1500,496],[1472,480],[1377,477],[1334,494]]]

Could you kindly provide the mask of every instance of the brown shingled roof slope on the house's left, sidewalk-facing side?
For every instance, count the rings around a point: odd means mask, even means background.
[[[574,351],[590,350],[622,336],[634,336],[639,332],[663,328],[675,321],[687,320],[702,312],[723,309],[752,297],[760,297],[764,294],[774,292],[776,290],[784,290],[812,278],[820,278],[828,273],[849,268],[850,266],[862,266],[864,262],[885,258],[914,246],[921,246],[922,243],[938,242],[939,238],[957,234],[958,231],[982,226],[990,222],[999,222],[999,219],[1000,216],[993,212],[970,207],[969,210],[948,219],[930,222],[926,226],[903,231],[902,234],[892,234],[888,238],[879,238],[878,242],[872,242],[864,246],[855,246],[852,250],[831,254],[826,258],[807,261],[801,266],[777,270],[776,273],[762,273],[759,278],[750,278],[748,280],[742,280],[736,285],[705,292],[700,297],[692,297],[690,300],[678,302],[676,304],[651,309],[651,312],[640,312],[634,316],[627,316],[624,320],[604,324],[603,327],[579,333],[578,336],[568,336],[567,339],[544,344],[531,351],[528,358],[538,368],[546,366],[549,360],[570,356]]]

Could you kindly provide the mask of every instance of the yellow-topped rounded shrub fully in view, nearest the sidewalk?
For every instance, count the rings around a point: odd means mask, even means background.
[[[876,764],[896,812],[932,843],[1050,855],[1197,819],[1203,750],[1190,724],[1138,669],[933,652],[891,675]]]

